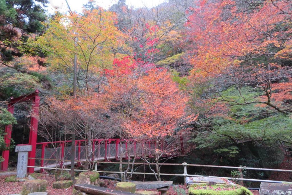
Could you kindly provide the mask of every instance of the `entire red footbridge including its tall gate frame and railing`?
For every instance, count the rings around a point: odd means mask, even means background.
[[[34,93],[23,95],[18,98],[10,98],[8,100],[8,111],[13,114],[14,105],[19,102],[32,100],[32,111],[34,115],[39,113],[39,91]],[[31,117],[30,131],[29,131],[29,143],[20,145],[32,145],[32,151],[28,153],[28,168],[29,173],[34,172],[34,166],[38,167],[56,167],[67,166],[71,164],[71,146],[72,141],[54,141],[54,142],[42,142],[36,143],[37,139],[37,126],[38,120],[35,117]],[[12,125],[5,126],[4,141],[6,146],[10,146]],[[86,141],[75,141],[75,160],[78,166],[86,159]],[[158,145],[157,145],[158,144]],[[171,151],[168,156],[175,156],[181,154],[184,151],[183,138],[176,140],[175,143],[156,143],[155,141],[143,140],[121,140],[121,139],[94,139],[91,152],[91,162],[93,161],[109,161],[120,160],[120,158],[131,158],[133,156],[151,158],[155,153],[155,149],[159,146],[161,150],[167,148],[167,151]],[[87,148],[88,149],[88,148]],[[130,155],[130,156],[128,156]],[[1,163],[1,170],[6,171],[8,168],[9,150],[2,152],[4,161]],[[40,168],[38,168],[40,169]],[[41,169],[41,171],[43,171]]]

